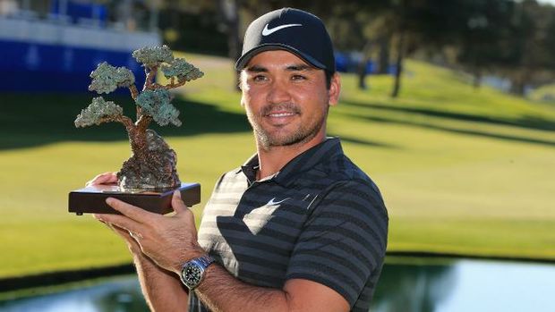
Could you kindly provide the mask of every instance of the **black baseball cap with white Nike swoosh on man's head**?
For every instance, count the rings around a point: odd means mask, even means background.
[[[241,71],[254,55],[269,50],[286,50],[316,68],[336,72],[328,30],[316,15],[302,10],[283,8],[252,21],[235,69]]]

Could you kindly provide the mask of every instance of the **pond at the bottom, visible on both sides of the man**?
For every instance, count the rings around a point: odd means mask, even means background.
[[[371,311],[555,311],[555,266],[486,260],[388,258]],[[148,311],[134,275],[46,295],[0,300],[0,312]]]

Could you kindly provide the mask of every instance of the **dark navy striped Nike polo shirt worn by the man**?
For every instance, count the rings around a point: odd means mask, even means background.
[[[380,190],[329,138],[256,181],[258,156],[222,175],[199,243],[243,282],[281,289],[301,278],[368,311],[380,276],[388,213]],[[208,311],[194,293],[190,311]],[[260,307],[263,310],[263,307]]]

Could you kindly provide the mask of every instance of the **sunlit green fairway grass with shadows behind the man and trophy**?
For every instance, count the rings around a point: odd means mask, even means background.
[[[252,131],[224,59],[186,55],[206,76],[176,94],[184,126],[159,128],[183,181],[203,203],[219,174],[254,152]],[[388,250],[555,260],[555,107],[473,89],[463,75],[406,63],[401,97],[390,77],[370,91],[343,76],[329,134],[380,186]],[[109,97],[109,96],[108,96]],[[2,94],[0,277],[129,262],[124,244],[67,194],[129,156],[117,124],[74,129],[89,95]],[[127,97],[110,97],[132,112]]]

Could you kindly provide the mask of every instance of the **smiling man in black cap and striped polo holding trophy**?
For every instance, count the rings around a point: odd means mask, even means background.
[[[152,310],[367,311],[388,215],[374,183],[326,137],[340,90],[327,30],[300,10],[267,13],[235,67],[258,153],[217,182],[198,237],[178,192],[175,215],[108,198],[123,215],[96,217],[126,240]]]

